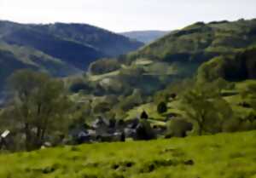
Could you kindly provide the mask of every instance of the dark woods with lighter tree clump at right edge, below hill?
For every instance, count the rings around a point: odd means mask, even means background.
[[[236,55],[219,56],[200,66],[197,80],[200,83],[212,82],[217,78],[241,81],[256,78],[256,49],[247,49]]]

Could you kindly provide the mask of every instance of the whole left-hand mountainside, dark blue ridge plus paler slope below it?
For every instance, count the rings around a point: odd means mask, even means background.
[[[95,60],[125,55],[142,46],[136,40],[86,24],[0,20],[0,85],[21,68],[64,77],[84,71]]]

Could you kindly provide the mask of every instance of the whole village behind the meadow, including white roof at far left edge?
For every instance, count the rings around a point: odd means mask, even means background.
[[[1,130],[0,150],[12,150],[14,134],[9,130]],[[84,143],[113,141],[148,141],[166,136],[166,126],[150,125],[148,114],[143,111],[140,118],[115,120],[98,117],[90,125],[84,124],[70,129],[68,136],[60,136],[57,145],[79,145]],[[25,139],[25,138],[23,138]],[[55,146],[48,136],[41,148]]]

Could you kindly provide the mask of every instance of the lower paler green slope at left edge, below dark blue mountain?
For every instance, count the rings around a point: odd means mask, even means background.
[[[24,68],[48,72],[55,77],[65,77],[82,72],[66,62],[36,49],[7,43],[0,43],[0,68],[0,83],[3,85],[12,72]],[[0,90],[3,89],[3,85],[0,85]]]

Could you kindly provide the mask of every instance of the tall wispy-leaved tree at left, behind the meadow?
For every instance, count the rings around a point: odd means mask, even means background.
[[[9,78],[9,89],[13,95],[9,117],[26,135],[26,150],[37,149],[46,135],[63,129],[69,100],[60,80],[44,73],[20,70]]]

